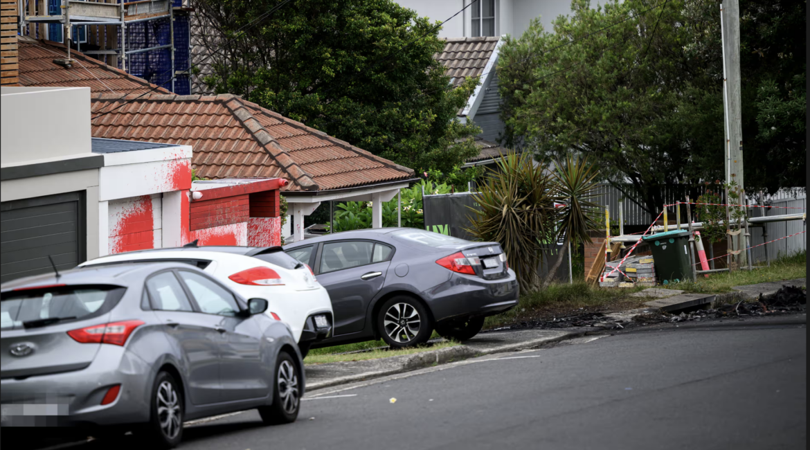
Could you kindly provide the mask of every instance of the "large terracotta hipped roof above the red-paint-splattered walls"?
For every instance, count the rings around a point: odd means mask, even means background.
[[[194,174],[203,178],[280,177],[292,181],[282,190],[311,191],[414,176],[412,169],[231,94],[135,97],[93,95],[93,137],[190,145]]]

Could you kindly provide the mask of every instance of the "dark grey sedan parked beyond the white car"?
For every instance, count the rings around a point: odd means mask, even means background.
[[[313,347],[382,338],[426,342],[436,329],[461,341],[484,318],[518,304],[518,281],[501,245],[415,228],[344,231],[284,251],[313,268],[335,313],[335,336]]]

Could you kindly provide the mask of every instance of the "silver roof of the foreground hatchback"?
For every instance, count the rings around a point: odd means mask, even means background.
[[[20,287],[33,287],[49,284],[109,284],[114,286],[130,286],[142,282],[143,278],[163,269],[192,269],[197,268],[178,262],[130,262],[115,265],[91,265],[63,270],[56,274],[41,274],[31,277],[18,278],[0,285],[0,290],[11,291]],[[198,270],[202,272],[202,270]]]

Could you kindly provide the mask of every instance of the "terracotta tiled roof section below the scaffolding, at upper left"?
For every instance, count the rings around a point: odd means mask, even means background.
[[[54,64],[54,59],[67,57],[65,45],[58,42],[18,36],[18,43],[20,86],[90,87],[94,93],[107,92],[119,96],[141,94],[156,87],[145,79],[107,66],[75,50],[70,50],[70,57],[76,60],[70,69]],[[155,92],[169,93],[163,87],[156,87]]]

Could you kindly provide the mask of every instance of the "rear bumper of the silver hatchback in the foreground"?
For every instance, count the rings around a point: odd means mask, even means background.
[[[113,363],[114,362],[114,363]],[[149,420],[152,368],[117,346],[102,346],[80,371],[0,380],[0,426],[93,427]],[[101,405],[121,384],[115,401]]]

